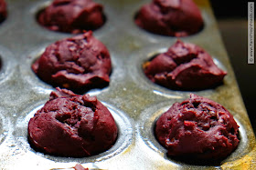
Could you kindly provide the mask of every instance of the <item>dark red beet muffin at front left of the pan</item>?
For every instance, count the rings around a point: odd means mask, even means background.
[[[114,144],[117,133],[112,114],[96,97],[59,88],[28,123],[30,144],[50,155],[97,155]]]

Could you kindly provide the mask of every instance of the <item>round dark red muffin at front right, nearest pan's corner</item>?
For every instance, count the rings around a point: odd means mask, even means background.
[[[226,108],[191,94],[160,116],[155,135],[170,156],[219,159],[239,145],[238,130],[239,125]]]

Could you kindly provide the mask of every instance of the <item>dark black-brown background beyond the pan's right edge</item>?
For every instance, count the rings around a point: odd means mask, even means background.
[[[210,2],[239,83],[240,93],[251,119],[251,125],[256,133],[256,63],[254,65],[247,64],[248,1],[210,0]],[[256,17],[255,14],[254,17]],[[256,29],[255,22],[254,28]],[[256,50],[256,48],[254,49]]]

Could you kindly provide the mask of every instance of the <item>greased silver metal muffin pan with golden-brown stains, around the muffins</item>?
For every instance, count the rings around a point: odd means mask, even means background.
[[[176,42],[176,37],[153,35],[133,23],[138,9],[149,1],[95,0],[104,5],[107,21],[94,31],[94,36],[108,47],[113,69],[110,85],[89,94],[96,95],[110,109],[119,128],[115,145],[100,155],[84,158],[44,155],[33,150],[27,142],[27,123],[55,89],[37,78],[31,64],[47,45],[72,35],[48,31],[37,24],[37,12],[49,1],[6,2],[8,17],[0,25],[1,169],[72,169],[76,164],[110,170],[255,168],[255,137],[208,1],[196,1],[205,23],[202,31],[180,39],[203,47],[228,75],[224,85],[191,92],[218,102],[234,115],[240,125],[240,145],[222,162],[207,164],[167,157],[165,148],[155,139],[156,119],[190,92],[166,89],[144,76],[144,61]]]

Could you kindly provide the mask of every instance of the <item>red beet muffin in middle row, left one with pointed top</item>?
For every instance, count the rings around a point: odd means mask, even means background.
[[[50,85],[82,92],[109,85],[112,63],[106,46],[90,31],[48,45],[32,70]]]

